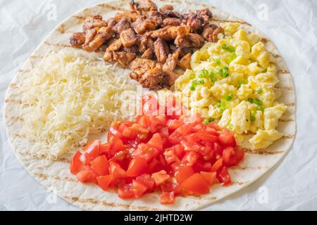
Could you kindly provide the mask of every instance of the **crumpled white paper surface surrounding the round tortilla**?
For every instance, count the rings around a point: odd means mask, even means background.
[[[49,193],[15,159],[2,115],[8,84],[42,39],[69,15],[98,2],[0,0],[0,210],[78,210],[61,198],[48,203]],[[290,153],[254,184],[206,210],[317,210],[317,1],[201,2],[247,20],[272,39],[297,94],[297,136]]]

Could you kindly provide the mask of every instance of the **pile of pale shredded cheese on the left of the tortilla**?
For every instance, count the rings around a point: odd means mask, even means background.
[[[121,94],[137,84],[93,54],[60,51],[44,58],[21,88],[31,152],[58,158],[121,120]]]

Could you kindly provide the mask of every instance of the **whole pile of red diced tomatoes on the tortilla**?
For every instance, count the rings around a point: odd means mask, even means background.
[[[118,188],[123,199],[161,191],[162,204],[174,203],[177,195],[209,193],[216,179],[230,185],[228,167],[244,158],[244,149],[231,131],[204,124],[199,113],[177,103],[174,95],[163,103],[143,96],[137,120],[113,122],[108,142],[94,140],[77,151],[70,172],[105,191]]]

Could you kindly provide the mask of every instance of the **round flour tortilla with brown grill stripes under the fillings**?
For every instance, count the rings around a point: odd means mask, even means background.
[[[219,24],[226,21],[239,22],[244,29],[261,34],[259,30],[249,25],[249,23],[211,6],[175,0],[160,0],[155,1],[155,3],[159,7],[164,4],[173,5],[175,6],[175,11],[181,13],[209,7],[213,12],[213,23]],[[278,78],[280,79],[278,89],[282,91],[279,102],[285,103],[288,106],[287,112],[283,115],[278,127],[278,131],[282,132],[284,136],[273,143],[270,148],[261,152],[247,149],[245,158],[240,165],[230,169],[232,177],[231,186],[223,187],[220,184],[216,184],[208,195],[179,197],[176,198],[176,202],[173,205],[161,205],[159,203],[159,193],[151,193],[138,200],[121,200],[118,198],[117,193],[113,191],[102,191],[97,185],[84,185],[77,181],[76,177],[70,174],[68,169],[70,155],[62,156],[58,160],[48,161],[44,157],[30,154],[30,151],[28,151],[30,143],[27,143],[26,139],[27,131],[23,129],[23,117],[27,115],[23,115],[21,110],[23,107],[27,107],[27,105],[22,105],[20,96],[23,95],[24,90],[18,89],[18,84],[23,83],[25,77],[32,76],[32,69],[37,66],[43,56],[46,56],[52,50],[71,49],[69,45],[70,34],[81,30],[85,17],[100,14],[106,19],[119,13],[123,8],[128,9],[128,4],[129,1],[127,0],[107,1],[104,4],[86,8],[72,15],[61,23],[61,25],[58,25],[56,30],[39,45],[23,67],[18,70],[17,75],[15,75],[8,88],[4,116],[8,139],[20,163],[46,188],[56,188],[58,196],[84,210],[199,210],[239,191],[268,172],[287,153],[287,150],[291,148],[294,141],[296,130],[294,115],[295,94],[292,75],[287,70],[287,66],[273,42],[264,37],[263,34],[261,34],[263,42],[266,44],[267,49],[275,56],[278,65]],[[73,49],[71,51],[80,50]]]

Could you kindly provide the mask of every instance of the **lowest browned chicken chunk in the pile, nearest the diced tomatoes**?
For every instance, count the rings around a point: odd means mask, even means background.
[[[139,77],[139,83],[144,88],[158,89],[163,83],[164,73],[160,65],[156,65],[155,68],[147,70],[141,77]]]

